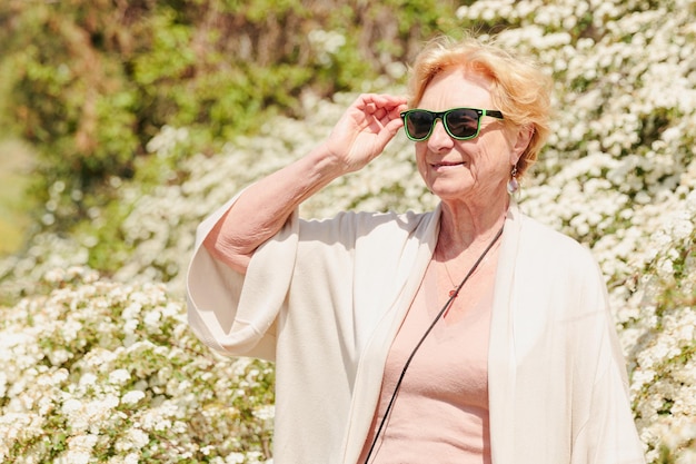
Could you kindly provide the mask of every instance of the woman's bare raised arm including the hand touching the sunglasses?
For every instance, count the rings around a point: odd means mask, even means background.
[[[245,274],[255,250],[280,230],[302,201],[382,152],[401,127],[399,111],[405,108],[401,97],[361,95],[325,142],[245,190],[206,237],[205,247]]]

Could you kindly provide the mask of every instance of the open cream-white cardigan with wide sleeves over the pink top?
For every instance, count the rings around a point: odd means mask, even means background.
[[[201,246],[188,315],[211,348],[276,362],[276,464],[356,464],[391,340],[432,256],[428,214],[294,214],[246,276]],[[489,346],[493,464],[644,463],[625,364],[590,253],[523,215],[505,221]],[[361,463],[360,463],[361,464]]]

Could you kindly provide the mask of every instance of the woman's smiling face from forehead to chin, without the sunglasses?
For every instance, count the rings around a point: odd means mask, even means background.
[[[418,108],[445,111],[468,107],[498,110],[490,99],[490,80],[463,69],[447,70],[426,88]],[[426,185],[445,201],[486,203],[506,194],[517,162],[517,137],[499,119],[481,117],[480,131],[469,140],[453,139],[438,119],[427,140],[416,142],[416,161]]]

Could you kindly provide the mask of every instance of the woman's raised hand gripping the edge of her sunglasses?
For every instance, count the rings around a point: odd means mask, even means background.
[[[364,93],[346,110],[325,142],[346,172],[359,170],[379,156],[401,128],[406,98]]]

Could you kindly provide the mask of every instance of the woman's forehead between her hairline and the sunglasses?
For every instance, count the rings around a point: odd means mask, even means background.
[[[428,83],[419,108],[443,111],[455,107],[490,108],[491,80],[478,72],[455,68],[438,73]]]

